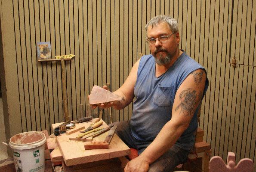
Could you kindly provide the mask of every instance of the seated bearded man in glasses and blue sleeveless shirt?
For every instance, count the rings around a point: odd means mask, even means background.
[[[124,171],[170,172],[194,146],[196,114],[208,80],[204,68],[179,50],[178,24],[173,18],[156,16],[145,29],[152,54],[142,56],[114,92],[122,101],[99,107],[120,110],[135,97],[130,121],[113,124],[120,138],[139,153]]]

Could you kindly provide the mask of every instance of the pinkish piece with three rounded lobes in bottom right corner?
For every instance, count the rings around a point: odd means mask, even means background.
[[[235,154],[228,152],[227,165],[221,157],[214,156],[210,160],[209,172],[253,172],[253,160],[243,158],[235,166]]]

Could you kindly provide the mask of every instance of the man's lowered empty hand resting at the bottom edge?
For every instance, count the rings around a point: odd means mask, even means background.
[[[136,157],[126,164],[124,172],[147,172],[149,163],[142,157]]]

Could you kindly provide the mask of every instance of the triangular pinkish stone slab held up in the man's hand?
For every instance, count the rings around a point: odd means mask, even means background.
[[[90,94],[89,104],[101,104],[120,100],[122,100],[122,98],[119,95],[95,85]]]

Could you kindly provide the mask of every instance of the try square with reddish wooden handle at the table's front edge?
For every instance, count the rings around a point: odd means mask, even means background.
[[[106,136],[104,141],[93,141],[93,142],[85,142],[84,144],[84,149],[88,150],[88,149],[108,149],[109,147],[109,143],[112,139],[112,137],[114,136],[114,132],[117,129],[117,126],[115,125],[114,127],[112,127],[109,132],[108,132],[108,136]]]

